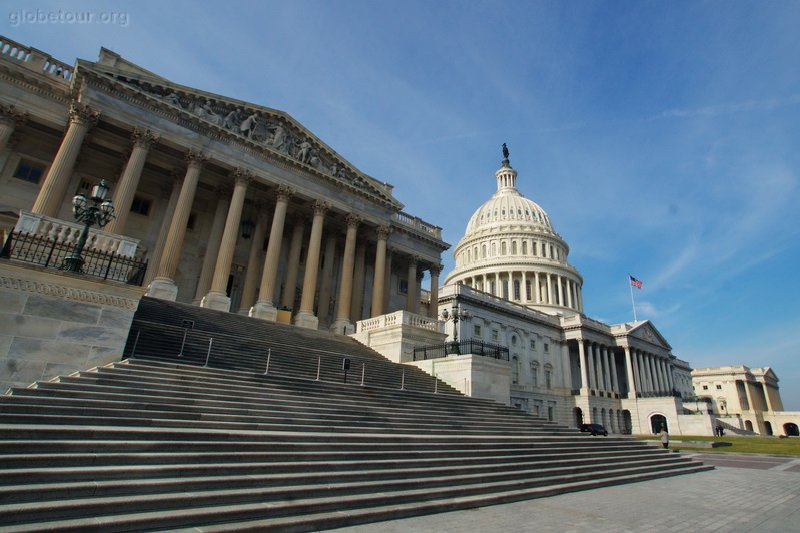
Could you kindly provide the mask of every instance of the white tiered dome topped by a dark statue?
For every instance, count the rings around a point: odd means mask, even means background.
[[[517,190],[507,156],[495,176],[497,191],[469,219],[445,284],[464,283],[551,314],[581,312],[583,279],[567,262],[569,246],[545,210]]]

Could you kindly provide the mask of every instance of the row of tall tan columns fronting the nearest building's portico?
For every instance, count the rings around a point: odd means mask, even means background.
[[[34,202],[32,210],[43,215],[56,217],[63,205],[70,178],[73,174],[75,161],[80,152],[83,140],[89,129],[97,123],[100,113],[86,105],[73,102],[70,107],[70,120],[67,132],[59,146],[55,159],[45,176],[40,192]],[[6,121],[7,122],[7,121]],[[0,129],[0,136],[11,131],[9,128]],[[7,136],[7,135],[5,135]],[[114,204],[118,213],[116,220],[108,226],[108,230],[115,233],[124,233],[127,223],[127,214],[136,193],[145,162],[150,148],[159,140],[158,134],[143,128],[135,128],[132,136],[133,148],[124,167],[119,181],[114,186]],[[186,170],[182,178],[176,176],[176,185],[172,188],[170,200],[165,212],[164,223],[159,234],[156,246],[149,258],[150,272],[146,276],[149,281],[148,295],[175,300],[178,288],[174,281],[176,270],[181,259],[187,222],[191,214],[198,184],[204,166],[207,164],[206,154],[188,150],[184,160]],[[195,291],[194,301],[201,306],[218,310],[229,311],[231,301],[226,295],[228,278],[231,272],[233,256],[239,237],[240,222],[248,197],[251,184],[256,179],[249,170],[235,168],[229,176],[229,182],[224,183],[217,190],[218,201],[214,221],[208,235],[208,248],[204,257]],[[232,187],[231,187],[232,185]],[[289,186],[280,185],[275,190],[275,202],[272,209],[272,221],[268,226],[265,216],[266,204],[263,200],[256,200],[259,205],[258,220],[255,225],[255,235],[251,246],[248,268],[245,279],[245,288],[242,304],[250,305],[248,312],[251,316],[267,320],[275,320],[278,305],[292,306],[294,303],[294,287],[299,275],[299,258],[303,245],[306,221],[304,217],[292,217],[288,223],[292,224],[291,241],[288,251],[288,261],[285,269],[284,290],[280,302],[277,301],[279,281],[279,263],[283,243],[284,229],[290,211],[290,202],[296,191]],[[319,318],[314,314],[317,291],[325,292],[325,299],[330,301],[330,277],[332,277],[332,259],[335,255],[337,238],[334,230],[328,231],[325,243],[326,255],[331,256],[331,261],[326,263],[323,273],[323,288],[319,287],[318,274],[322,257],[323,235],[326,223],[330,222],[331,204],[319,199],[312,202],[313,218],[311,220],[310,234],[305,241],[306,261],[302,279],[302,292],[299,310],[295,314],[296,325],[316,328]],[[335,320],[333,327],[338,331],[352,330],[353,322],[361,319],[365,282],[366,260],[366,232],[363,220],[354,213],[345,213],[342,217],[346,225],[344,249],[341,255],[341,271],[339,285],[336,288]],[[260,245],[264,236],[269,231],[269,240],[266,252],[263,253],[263,263]],[[383,314],[388,303],[388,285],[391,269],[391,250],[387,245],[391,227],[389,224],[374,228],[377,236],[375,244],[375,259],[372,279],[372,300],[370,316]],[[406,309],[412,312],[419,311],[419,257],[409,258],[409,279]],[[260,270],[260,281],[258,271]],[[330,271],[329,271],[330,270]],[[433,286],[438,285],[438,265],[435,270]],[[327,285],[326,285],[327,284]],[[256,291],[256,288],[258,289]],[[438,287],[437,287],[438,289]],[[256,293],[258,294],[256,298]],[[438,296],[437,296],[438,298]],[[323,298],[320,297],[320,300]],[[320,304],[322,307],[322,303]],[[325,318],[328,317],[327,305]]]

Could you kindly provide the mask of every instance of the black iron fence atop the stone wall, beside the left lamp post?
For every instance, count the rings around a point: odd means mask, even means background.
[[[43,235],[12,231],[3,245],[0,257],[61,270],[64,258],[74,248],[74,244]],[[90,249],[84,249],[81,255],[84,260],[82,273],[87,276],[139,286],[144,281],[147,261]]]

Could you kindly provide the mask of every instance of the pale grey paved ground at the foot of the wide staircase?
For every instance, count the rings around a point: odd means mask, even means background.
[[[697,455],[717,468],[699,474],[337,531],[800,531],[800,460],[774,456]],[[731,466],[723,466],[723,463]]]

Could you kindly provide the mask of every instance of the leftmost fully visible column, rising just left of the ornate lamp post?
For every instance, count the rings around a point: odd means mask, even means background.
[[[99,118],[100,112],[85,104],[76,101],[70,104],[67,133],[58,147],[56,157],[47,171],[47,176],[44,178],[42,188],[39,190],[39,195],[36,197],[31,211],[58,217],[83,140],[86,138],[89,128],[97,124]]]

